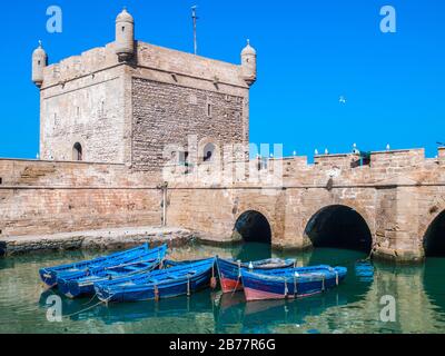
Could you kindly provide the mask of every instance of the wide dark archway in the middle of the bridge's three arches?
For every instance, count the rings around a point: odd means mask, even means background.
[[[373,237],[365,219],[354,209],[336,205],[318,211],[305,234],[314,247],[333,247],[370,253]]]

